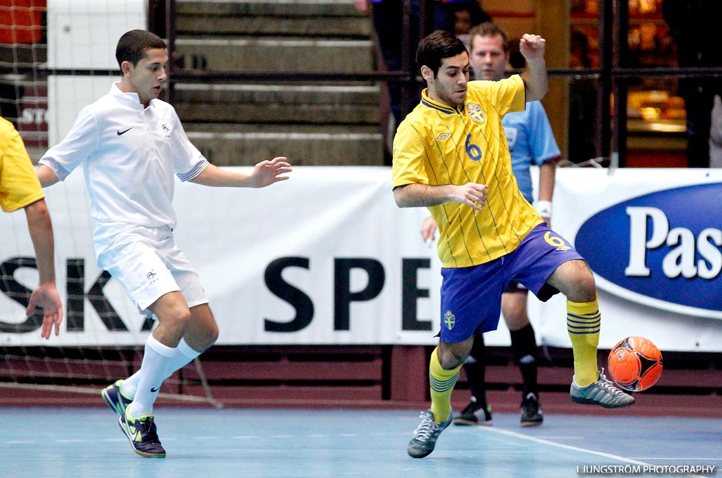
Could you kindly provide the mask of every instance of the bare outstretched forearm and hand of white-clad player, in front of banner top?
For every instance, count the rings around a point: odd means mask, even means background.
[[[288,176],[284,174],[290,172],[291,165],[285,157],[274,157],[273,160],[259,162],[253,167],[251,174],[207,165],[199,175],[191,179],[191,183],[220,188],[264,188],[287,180]]]

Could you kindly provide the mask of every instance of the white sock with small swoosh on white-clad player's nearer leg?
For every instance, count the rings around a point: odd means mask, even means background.
[[[174,347],[163,345],[149,336],[145,342],[143,362],[138,370],[138,386],[133,402],[128,406],[126,414],[129,417],[147,417],[153,414],[153,404],[158,398],[160,386],[166,378],[165,371],[177,350]]]

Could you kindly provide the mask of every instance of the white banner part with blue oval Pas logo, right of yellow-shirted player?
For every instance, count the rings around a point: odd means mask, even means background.
[[[594,272],[600,347],[638,335],[663,350],[722,350],[720,198],[719,169],[557,170],[552,227]],[[537,337],[563,346],[564,298],[529,306]]]

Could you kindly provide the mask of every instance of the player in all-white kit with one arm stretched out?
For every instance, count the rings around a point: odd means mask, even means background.
[[[157,35],[126,32],[116,58],[121,81],[79,113],[68,136],[40,160],[38,178],[50,186],[83,165],[98,265],[123,284],[141,313],[157,318],[140,370],[102,395],[134,451],[164,457],[153,418],[160,386],[218,336],[198,274],[173,240],[173,176],[262,188],[288,179],[291,168],[285,157],[259,162],[251,174],[210,164],[175,109],[158,99],[168,80],[168,50]]]

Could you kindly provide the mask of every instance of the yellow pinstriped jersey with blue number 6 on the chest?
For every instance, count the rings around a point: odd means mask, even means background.
[[[469,82],[466,101],[451,107],[422,92],[393,140],[393,188],[419,183],[487,185],[481,211],[447,202],[430,207],[444,267],[484,264],[514,251],[542,220],[519,191],[501,120],[524,109],[518,75]]]

